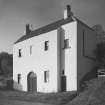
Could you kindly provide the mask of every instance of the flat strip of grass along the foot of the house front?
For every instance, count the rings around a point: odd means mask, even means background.
[[[45,93],[27,93],[27,92],[20,92],[20,91],[0,90],[0,97],[1,98],[4,97],[7,100],[14,100],[17,102],[21,101],[21,102],[28,102],[28,103],[30,102],[30,103],[44,103],[49,105],[50,104],[63,105],[71,101],[74,97],[76,97],[76,92],[45,94]],[[2,105],[9,105],[9,104],[2,104]],[[16,104],[16,105],[19,105],[19,104]]]

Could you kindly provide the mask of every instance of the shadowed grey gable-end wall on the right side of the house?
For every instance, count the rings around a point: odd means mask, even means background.
[[[79,22],[77,34],[77,75],[79,89],[82,79],[95,67],[94,50],[97,40],[96,33]]]

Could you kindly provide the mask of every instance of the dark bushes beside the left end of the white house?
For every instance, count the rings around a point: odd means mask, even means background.
[[[0,53],[0,88],[12,88],[13,57],[6,52]]]

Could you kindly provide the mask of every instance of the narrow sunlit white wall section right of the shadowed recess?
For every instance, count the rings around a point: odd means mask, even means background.
[[[77,22],[73,21],[63,25],[64,39],[69,39],[70,48],[62,50],[62,61],[65,61],[62,69],[65,70],[66,75],[66,90],[77,90]],[[63,38],[63,37],[62,37]],[[63,40],[62,40],[63,41]],[[64,42],[63,42],[64,43]],[[62,48],[64,45],[62,44]],[[65,57],[63,56],[65,55]]]

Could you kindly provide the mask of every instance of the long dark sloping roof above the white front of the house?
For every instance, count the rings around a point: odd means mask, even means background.
[[[31,37],[38,36],[40,34],[47,33],[49,31],[55,30],[58,27],[60,27],[61,25],[67,24],[67,23],[72,22],[72,21],[73,21],[72,18],[58,20],[58,21],[56,21],[54,23],[48,24],[48,25],[46,25],[44,27],[41,27],[41,28],[36,29],[34,31],[31,31],[31,33],[29,35],[22,36],[14,44],[16,44],[18,42],[21,42],[21,41],[24,41],[26,39],[29,39]]]

